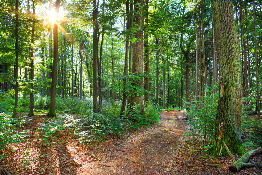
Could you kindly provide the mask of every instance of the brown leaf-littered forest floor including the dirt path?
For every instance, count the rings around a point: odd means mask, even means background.
[[[0,174],[4,168],[15,175],[232,174],[228,170],[230,157],[208,157],[199,140],[183,136],[190,126],[178,110],[163,111],[160,120],[148,127],[129,129],[121,136],[107,135],[92,144],[79,144],[70,129],[60,131],[55,140],[44,144],[36,136],[37,123],[45,122],[44,118],[45,114],[33,116],[23,128],[31,132],[28,140],[6,149],[7,157],[0,160]],[[261,159],[259,155],[251,161]],[[218,168],[203,166],[201,161]],[[262,171],[250,168],[235,174]]]

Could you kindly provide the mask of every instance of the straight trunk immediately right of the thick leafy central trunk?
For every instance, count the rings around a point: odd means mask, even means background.
[[[149,76],[149,44],[148,44],[148,37],[149,37],[149,32],[148,30],[148,0],[145,0],[145,25],[146,25],[146,30],[145,30],[145,56],[144,56],[144,62],[145,62],[145,68],[144,72],[147,76]],[[145,86],[144,89],[149,91],[149,77],[145,77]],[[145,92],[145,105],[146,103],[149,102],[149,93]]]

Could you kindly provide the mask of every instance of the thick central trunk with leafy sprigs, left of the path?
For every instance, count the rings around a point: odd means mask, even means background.
[[[140,5],[138,5],[138,3]],[[141,7],[140,7],[141,6]],[[144,0],[135,0],[134,1],[134,26],[137,27],[136,32],[134,33],[134,38],[139,39],[136,43],[133,44],[133,61],[132,61],[132,73],[139,74],[143,73],[143,25],[144,25]],[[133,85],[143,87],[143,79],[138,80],[136,82],[132,82]],[[144,114],[144,104],[143,104],[143,96],[141,94],[133,93],[130,97],[130,109],[134,105],[139,105],[138,109],[140,110],[140,114]]]

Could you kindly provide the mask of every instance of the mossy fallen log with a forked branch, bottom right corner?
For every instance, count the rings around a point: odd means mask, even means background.
[[[257,153],[258,151],[260,151],[260,150],[261,150],[261,147],[246,152],[240,159],[236,160],[236,161],[233,163],[233,165],[231,165],[231,166],[229,167],[229,170],[230,170],[232,173],[235,173],[235,172],[238,172],[241,168],[244,168],[244,167],[248,167],[248,168],[255,167],[255,166],[256,166],[255,164],[247,163],[247,162],[248,162],[248,159],[249,159],[250,157],[255,156],[256,153]]]

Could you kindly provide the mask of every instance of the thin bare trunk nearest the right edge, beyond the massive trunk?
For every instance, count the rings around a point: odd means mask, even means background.
[[[258,62],[257,62],[257,46],[256,46],[256,13],[255,13],[255,0],[253,0],[253,19],[254,19],[254,39],[255,39],[255,58],[256,58],[256,100],[257,100],[257,116],[260,120],[260,102],[259,102],[259,89],[258,89]]]

